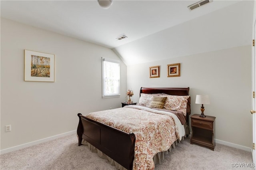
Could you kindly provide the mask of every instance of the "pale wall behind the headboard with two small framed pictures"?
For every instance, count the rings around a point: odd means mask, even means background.
[[[127,66],[127,88],[138,102],[140,87],[190,87],[191,109],[200,114],[196,95],[208,94],[205,115],[216,117],[216,139],[252,146],[251,46],[188,55]],[[157,57],[157,56],[156,56]],[[167,65],[180,63],[180,77],[167,77]],[[149,67],[160,65],[160,77],[149,78]]]

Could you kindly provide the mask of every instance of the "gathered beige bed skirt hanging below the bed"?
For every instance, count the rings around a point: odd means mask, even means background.
[[[184,140],[184,137],[182,137],[182,140]],[[164,152],[159,152],[157,153],[154,157],[154,164],[161,164],[161,160],[164,160],[164,155],[168,154],[168,152],[170,152],[172,150],[172,148],[175,148],[176,145],[178,145],[178,143],[180,143],[180,139],[176,140],[172,146],[164,151]],[[82,139],[82,144],[83,145],[88,145],[89,149],[92,152],[97,152],[98,156],[100,156],[100,158],[103,159],[108,159],[108,162],[112,165],[112,166],[116,166],[116,168],[118,170],[127,170],[126,168],[124,168],[122,165],[118,164],[116,161],[114,161],[113,159],[111,159],[109,156],[107,156],[106,154],[104,154],[103,152],[101,152],[100,150],[98,150],[96,147],[94,147],[92,144],[90,144],[89,142],[87,142],[86,140]]]

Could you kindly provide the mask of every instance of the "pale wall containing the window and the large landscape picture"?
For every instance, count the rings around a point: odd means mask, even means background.
[[[55,54],[54,83],[24,81],[24,49]],[[126,65],[121,96],[102,99],[101,57],[119,59],[106,47],[1,18],[1,150],[76,130],[77,113],[121,107]]]

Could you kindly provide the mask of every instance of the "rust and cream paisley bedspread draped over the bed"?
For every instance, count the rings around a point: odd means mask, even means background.
[[[173,113],[138,105],[90,113],[86,117],[136,136],[134,170],[154,170],[153,157],[166,151],[185,135],[183,126]]]

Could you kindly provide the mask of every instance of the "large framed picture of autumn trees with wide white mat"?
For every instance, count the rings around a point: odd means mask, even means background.
[[[25,81],[55,81],[55,55],[25,49]]]

